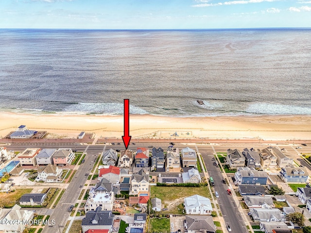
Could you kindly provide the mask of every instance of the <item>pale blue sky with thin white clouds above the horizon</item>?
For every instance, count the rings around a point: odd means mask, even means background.
[[[0,28],[311,27],[311,0],[0,0]]]

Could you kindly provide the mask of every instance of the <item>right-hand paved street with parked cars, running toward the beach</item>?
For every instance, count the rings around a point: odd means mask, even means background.
[[[217,200],[226,225],[230,225],[232,232],[248,233],[238,207],[236,206],[232,196],[229,196],[226,192],[229,187],[222,182],[223,176],[220,172],[220,168],[214,165],[215,158],[212,148],[210,146],[198,146],[198,149],[207,166],[209,176],[214,179],[214,190],[219,194],[219,198]]]

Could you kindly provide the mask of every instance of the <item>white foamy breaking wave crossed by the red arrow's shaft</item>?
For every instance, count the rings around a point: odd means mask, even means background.
[[[78,103],[69,105],[62,113],[123,115],[124,105],[121,103]],[[148,114],[148,112],[130,104],[130,114]]]

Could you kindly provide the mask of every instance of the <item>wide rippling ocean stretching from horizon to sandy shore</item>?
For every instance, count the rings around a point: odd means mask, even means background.
[[[311,29],[0,29],[0,112],[311,115]],[[202,100],[204,104],[199,104]]]

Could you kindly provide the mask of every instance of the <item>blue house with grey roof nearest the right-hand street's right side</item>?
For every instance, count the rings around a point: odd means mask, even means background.
[[[268,174],[265,171],[258,171],[254,167],[238,167],[234,179],[235,184],[266,185]]]

